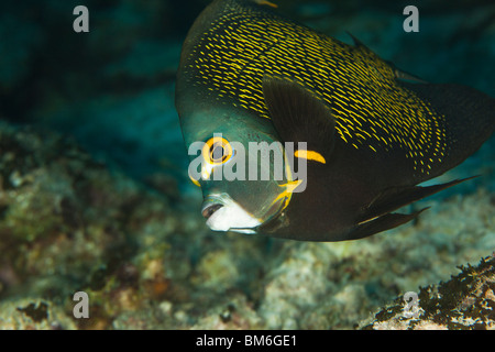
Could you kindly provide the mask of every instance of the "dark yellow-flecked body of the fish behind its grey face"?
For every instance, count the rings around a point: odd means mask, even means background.
[[[273,118],[266,77],[294,81],[331,108],[332,157],[308,169],[308,188],[294,195],[284,220],[264,227],[274,235],[349,239],[372,219],[372,206],[385,209],[378,217],[402,206],[397,199],[418,199],[414,185],[461,163],[495,125],[492,98],[468,87],[403,82],[364,45],[344,44],[251,1],[211,4],[188,35],[180,66],[178,95],[187,89],[198,101],[253,118]]]

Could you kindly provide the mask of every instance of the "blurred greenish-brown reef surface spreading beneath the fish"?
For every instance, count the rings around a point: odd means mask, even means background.
[[[419,287],[495,248],[483,187],[424,200],[419,221],[370,239],[304,243],[212,233],[198,197],[151,188],[50,131],[1,123],[0,180],[0,329],[351,329],[406,292],[437,321],[431,310],[457,306],[438,298],[442,286]],[[475,273],[457,279],[470,289],[447,290],[464,305],[459,321],[491,328],[480,309],[493,304],[493,258]],[[88,319],[73,316],[76,292],[88,294]],[[397,327],[382,318],[399,300],[369,326]]]

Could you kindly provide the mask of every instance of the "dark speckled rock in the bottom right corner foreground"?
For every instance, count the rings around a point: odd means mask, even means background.
[[[395,299],[361,323],[374,330],[495,329],[495,252],[480,264],[460,266],[450,280],[422,287],[417,317],[405,317],[403,297]]]

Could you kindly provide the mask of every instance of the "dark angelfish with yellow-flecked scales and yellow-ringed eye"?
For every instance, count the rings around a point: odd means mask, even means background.
[[[352,40],[268,1],[216,0],[196,19],[175,105],[211,230],[359,240],[417,219],[427,208],[397,210],[469,179],[420,185],[493,134],[495,99],[425,81]],[[264,178],[215,177],[267,165]]]

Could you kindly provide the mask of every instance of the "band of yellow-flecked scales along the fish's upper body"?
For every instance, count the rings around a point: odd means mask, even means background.
[[[287,78],[332,108],[338,134],[358,150],[400,148],[426,175],[448,153],[444,117],[398,85],[377,55],[254,4],[228,7],[189,55],[188,79],[210,99],[270,118],[263,76]]]

